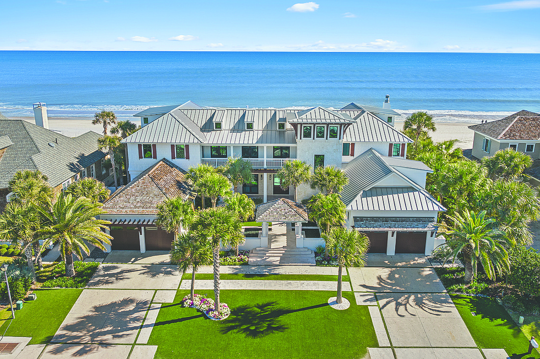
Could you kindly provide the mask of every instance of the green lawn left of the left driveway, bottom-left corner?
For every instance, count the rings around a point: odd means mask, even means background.
[[[15,320],[5,335],[31,336],[29,344],[49,343],[82,291],[83,289],[37,289],[34,291],[37,299],[25,302],[22,310],[15,311]],[[5,332],[10,321],[2,321],[0,333]]]

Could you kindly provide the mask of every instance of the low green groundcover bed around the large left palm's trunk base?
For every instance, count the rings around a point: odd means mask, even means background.
[[[96,273],[98,262],[75,262],[75,277],[65,277],[63,262],[45,265],[42,271],[36,272],[41,288],[84,288],[92,275]]]

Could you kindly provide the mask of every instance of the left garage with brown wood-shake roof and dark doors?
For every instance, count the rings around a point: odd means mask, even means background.
[[[186,171],[165,158],[114,192],[103,205],[107,213],[100,216],[111,221],[112,249],[141,253],[170,250],[174,235],[154,222],[157,205],[166,198],[177,196],[189,201],[195,198]],[[107,249],[110,251],[111,248]]]

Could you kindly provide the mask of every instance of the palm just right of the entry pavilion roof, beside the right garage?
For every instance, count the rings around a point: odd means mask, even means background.
[[[338,194],[318,193],[309,204],[309,218],[328,232],[330,225],[340,226],[345,223],[345,204]],[[325,246],[325,258],[328,258],[328,246]]]

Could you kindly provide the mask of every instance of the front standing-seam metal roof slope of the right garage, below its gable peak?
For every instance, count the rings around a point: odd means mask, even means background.
[[[372,187],[355,198],[351,210],[446,211],[426,190],[413,187]]]

